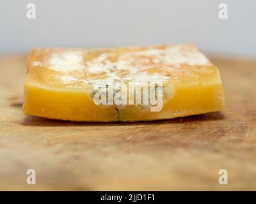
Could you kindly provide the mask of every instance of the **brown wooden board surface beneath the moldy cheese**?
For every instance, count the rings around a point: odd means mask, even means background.
[[[0,190],[256,190],[256,62],[213,57],[224,112],[74,123],[21,112],[26,57],[0,58]],[[36,170],[36,185],[26,171]],[[228,185],[218,171],[228,171]]]

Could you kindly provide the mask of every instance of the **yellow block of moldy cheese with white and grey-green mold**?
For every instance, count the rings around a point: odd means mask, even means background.
[[[194,45],[38,48],[29,54],[22,108],[27,115],[138,121],[223,108],[220,73]]]

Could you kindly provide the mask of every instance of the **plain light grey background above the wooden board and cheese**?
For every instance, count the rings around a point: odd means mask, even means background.
[[[36,19],[26,17],[28,3]],[[228,19],[218,17],[228,4]],[[195,43],[212,54],[256,57],[255,0],[0,0],[0,54],[32,47]]]

